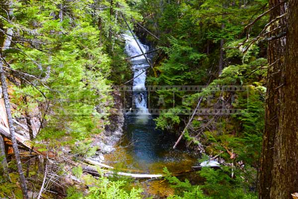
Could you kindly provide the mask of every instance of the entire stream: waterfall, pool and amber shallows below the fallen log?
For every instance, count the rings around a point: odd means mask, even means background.
[[[123,37],[126,40],[125,52],[129,57],[142,54],[132,35],[127,33]],[[143,52],[148,52],[149,47],[138,42]],[[150,67],[149,64],[144,56],[131,59],[131,63],[135,77],[132,94],[134,111],[125,115],[124,136],[116,147],[116,151],[105,155],[106,162],[119,170],[125,168],[130,172],[144,174],[161,174],[164,167],[172,173],[190,170],[197,159],[186,149],[179,147],[172,149],[176,137],[173,134],[156,130],[154,116],[149,114],[145,86],[146,72],[143,72]],[[173,192],[166,183],[158,181],[157,183],[156,181],[146,182],[143,185],[144,188],[149,194],[164,197]]]

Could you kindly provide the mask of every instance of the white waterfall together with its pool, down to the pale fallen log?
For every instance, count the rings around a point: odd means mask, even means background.
[[[125,52],[129,57],[142,55],[138,43],[144,53],[148,52],[148,47],[139,41],[137,43],[131,34],[126,33],[123,38],[126,40]],[[130,169],[139,169],[144,172],[155,173],[154,171],[156,171],[160,173],[163,166],[172,168],[174,166],[173,171],[181,171],[180,166],[185,165],[185,162],[188,164],[190,161],[184,151],[172,150],[176,141],[175,137],[170,134],[167,136],[166,133],[155,128],[153,116],[149,114],[147,108],[146,72],[142,72],[150,66],[143,55],[131,59],[131,62],[135,77],[132,89],[132,108],[135,110],[125,115],[124,147],[119,147],[119,158],[126,162]],[[117,158],[115,161],[119,161],[119,159]],[[177,164],[173,164],[174,162]],[[160,165],[162,166],[160,167]],[[152,169],[155,170],[151,171]]]

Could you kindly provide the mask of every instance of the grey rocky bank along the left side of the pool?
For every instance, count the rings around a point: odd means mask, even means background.
[[[94,138],[92,146],[98,147],[99,150],[96,155],[92,157],[93,160],[103,162],[103,154],[110,153],[115,150],[115,145],[120,140],[123,133],[124,115],[122,108],[122,98],[118,91],[113,93],[114,106],[111,109],[109,116],[110,124],[105,126],[104,132]]]

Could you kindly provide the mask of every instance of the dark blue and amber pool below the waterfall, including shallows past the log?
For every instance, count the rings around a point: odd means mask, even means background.
[[[127,115],[124,136],[116,151],[105,155],[107,164],[119,171],[143,174],[162,174],[163,168],[171,173],[191,170],[197,158],[185,148],[172,149],[176,137],[155,129],[151,115]],[[195,177],[188,173],[187,178]],[[183,177],[182,177],[183,178]],[[150,180],[141,183],[149,195],[166,197],[174,190],[163,180]]]

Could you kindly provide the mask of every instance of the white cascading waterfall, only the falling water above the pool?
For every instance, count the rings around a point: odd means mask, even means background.
[[[126,41],[125,52],[128,56],[133,57],[142,55],[142,51],[140,50],[138,43],[140,44],[144,53],[148,51],[149,47],[141,44],[139,40],[136,41],[131,34],[123,34],[123,37]],[[135,78],[133,83],[134,108],[138,109],[137,114],[149,114],[147,108],[147,92],[145,87],[146,72],[144,72],[144,70],[149,67],[149,64],[143,55],[131,59],[131,62],[133,65],[132,69],[134,71]]]

